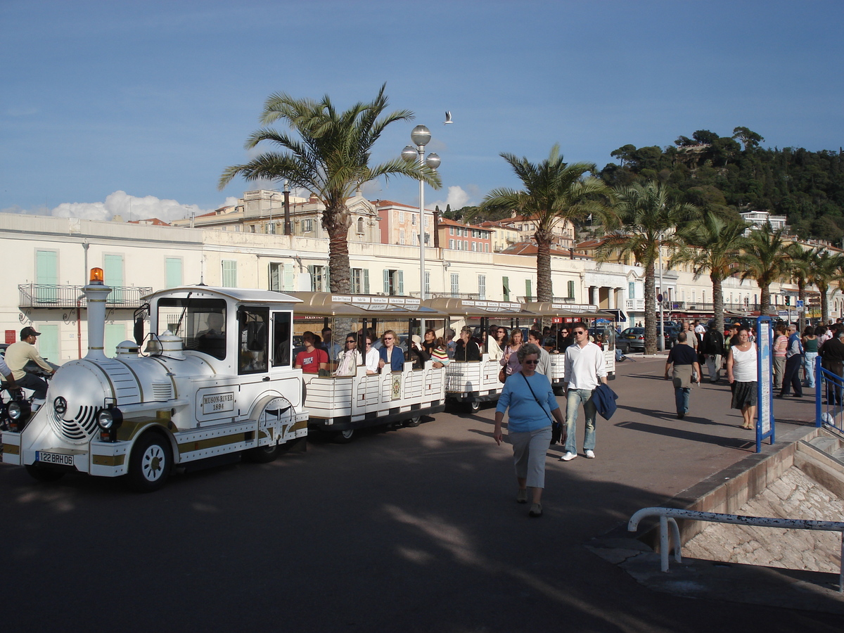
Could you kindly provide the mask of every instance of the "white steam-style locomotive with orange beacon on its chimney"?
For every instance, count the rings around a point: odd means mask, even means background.
[[[300,300],[203,285],[162,290],[146,298],[149,335],[136,332],[108,358],[110,292],[93,269],[84,287],[88,353],[62,365],[25,424],[3,431],[3,463],[40,480],[125,476],[133,489],[151,491],[177,466],[209,457],[269,462],[304,450],[309,416],[301,371],[290,363]]]

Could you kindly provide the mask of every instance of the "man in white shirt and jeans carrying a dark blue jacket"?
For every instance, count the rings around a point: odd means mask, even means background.
[[[586,457],[594,459],[597,409],[592,402],[592,392],[598,387],[598,381],[607,383],[603,349],[589,342],[585,323],[575,323],[571,329],[575,343],[565,349],[565,455],[560,457],[560,462],[571,462],[577,457],[577,409],[581,403],[586,416],[583,452]]]

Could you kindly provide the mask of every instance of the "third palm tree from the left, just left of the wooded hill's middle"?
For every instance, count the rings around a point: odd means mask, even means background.
[[[668,196],[657,181],[638,181],[616,190],[614,215],[608,216],[603,245],[598,257],[607,259],[613,252],[632,255],[645,268],[645,353],[657,351],[656,266],[663,246],[674,250],[674,228],[697,213],[688,203],[678,203]]]

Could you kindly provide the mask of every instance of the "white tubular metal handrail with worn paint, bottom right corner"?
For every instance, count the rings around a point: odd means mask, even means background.
[[[782,527],[786,529],[822,530],[825,532],[841,533],[841,558],[839,559],[838,592],[844,593],[844,522],[842,521],[812,521],[809,519],[778,519],[765,517],[744,517],[738,514],[719,514],[718,512],[700,512],[695,510],[679,510],[677,508],[642,508],[637,511],[627,523],[628,532],[636,532],[639,522],[647,517],[659,517],[659,555],[662,570],[668,571],[668,522],[672,522],[674,529],[674,560],[682,561],[680,549],[679,527],[675,518],[690,519],[691,521],[708,521],[713,523],[733,523],[735,525],[749,525],[755,527]]]

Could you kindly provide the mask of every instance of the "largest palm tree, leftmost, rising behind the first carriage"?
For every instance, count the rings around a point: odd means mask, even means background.
[[[351,216],[346,200],[356,189],[365,182],[393,175],[409,176],[431,187],[440,187],[435,170],[398,156],[380,165],[369,165],[372,145],[384,128],[414,117],[408,110],[381,116],[387,107],[385,87],[386,84],[381,86],[370,103],[359,102],[342,112],[337,111],[327,95],[319,101],[294,99],[284,93],[270,95],[264,104],[262,125],[286,121],[299,138],[269,127],[257,130],[246,141],[247,149],[269,141],[284,151],[261,154],[246,165],[232,165],[219,179],[220,189],[241,175],[247,181],[287,180],[292,187],[313,193],[325,206],[322,227],[328,234],[328,277],[332,292],[351,290],[348,242]]]

